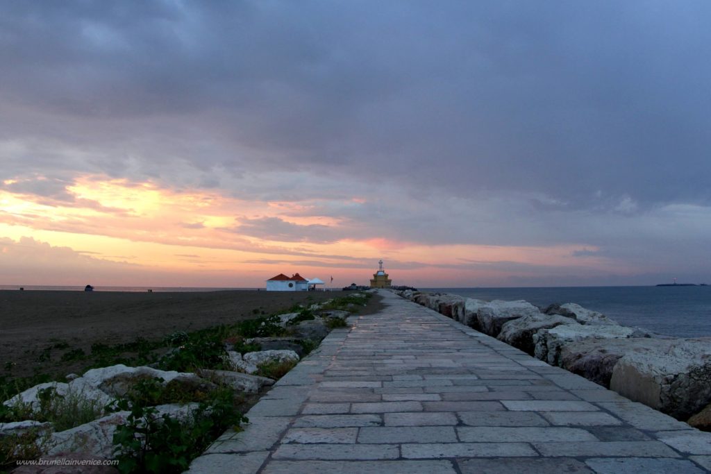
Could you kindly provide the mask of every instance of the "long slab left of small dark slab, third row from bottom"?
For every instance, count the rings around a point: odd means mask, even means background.
[[[583,429],[559,427],[461,426],[456,429],[465,443],[511,443],[545,441],[597,441]]]

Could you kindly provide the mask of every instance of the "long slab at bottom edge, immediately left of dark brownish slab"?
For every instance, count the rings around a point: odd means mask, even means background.
[[[397,451],[397,450],[396,450]],[[456,474],[449,460],[341,461],[275,460],[263,474]]]

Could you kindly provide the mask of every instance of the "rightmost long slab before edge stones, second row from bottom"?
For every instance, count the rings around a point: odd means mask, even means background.
[[[645,456],[678,458],[659,441],[583,441],[573,443],[533,443],[542,456]]]

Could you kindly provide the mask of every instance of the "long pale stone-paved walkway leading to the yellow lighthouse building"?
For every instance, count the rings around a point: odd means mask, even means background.
[[[381,293],[190,472],[711,471],[711,433]]]

